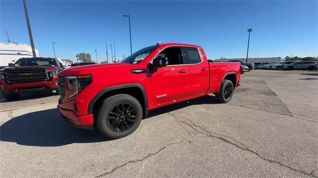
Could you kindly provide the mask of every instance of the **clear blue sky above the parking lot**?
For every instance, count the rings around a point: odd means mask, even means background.
[[[80,52],[105,59],[105,40],[117,59],[157,41],[202,46],[209,59],[318,56],[318,1],[31,1],[35,47],[41,56],[76,59]],[[22,0],[0,0],[0,42],[30,44]],[[110,54],[110,48],[108,49]],[[109,55],[110,58],[111,55]]]

